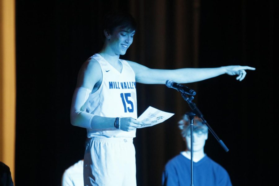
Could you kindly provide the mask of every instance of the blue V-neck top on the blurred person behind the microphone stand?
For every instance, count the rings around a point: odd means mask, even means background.
[[[205,156],[193,162],[193,182],[195,186],[231,186],[228,172]],[[179,154],[165,166],[162,176],[163,186],[188,186],[191,184],[191,160]]]

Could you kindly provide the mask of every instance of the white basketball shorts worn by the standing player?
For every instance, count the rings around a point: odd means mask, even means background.
[[[133,138],[96,136],[88,139],[83,179],[86,186],[136,186]]]

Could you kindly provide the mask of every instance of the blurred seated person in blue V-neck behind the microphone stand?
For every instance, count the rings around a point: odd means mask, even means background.
[[[191,185],[191,135],[187,115],[178,122],[186,150],[167,162],[162,175],[163,186]],[[193,183],[195,186],[231,186],[228,172],[204,153],[208,128],[201,119],[193,122]]]

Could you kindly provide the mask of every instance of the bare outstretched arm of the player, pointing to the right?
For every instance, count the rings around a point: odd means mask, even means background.
[[[136,81],[145,84],[165,84],[166,80],[177,83],[191,83],[213,78],[222,74],[238,75],[237,80],[245,78],[245,70],[255,70],[248,66],[224,66],[218,68],[187,68],[175,70],[149,69],[148,67],[128,61],[136,74]]]

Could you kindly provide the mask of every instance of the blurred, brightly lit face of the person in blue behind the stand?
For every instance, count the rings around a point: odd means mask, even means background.
[[[190,130],[186,135],[186,145],[187,149],[191,150],[191,134]],[[207,133],[201,131],[193,132],[193,152],[198,152],[204,148],[207,139]]]

